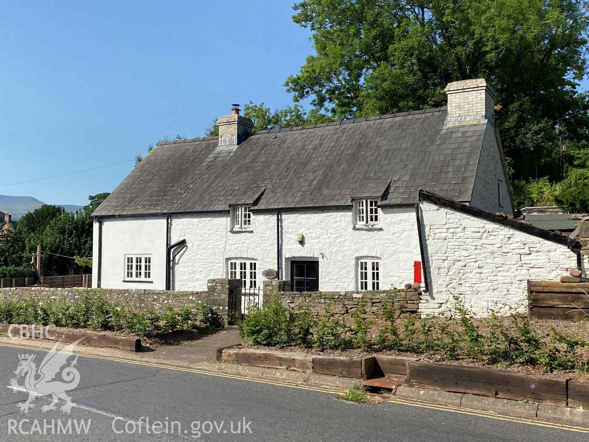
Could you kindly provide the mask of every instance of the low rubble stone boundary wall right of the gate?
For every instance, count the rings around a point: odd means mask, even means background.
[[[340,316],[340,319],[351,320],[353,313],[358,309],[358,304],[363,303],[365,314],[360,315],[364,319],[381,319],[380,307],[385,299],[389,299],[391,292],[388,290],[375,291],[347,291],[347,292],[291,292],[289,281],[264,281],[264,302],[267,302],[272,293],[278,293],[280,301],[287,306],[296,306],[300,302],[309,304],[311,314],[315,317],[325,313],[328,304],[330,312]],[[418,284],[406,284],[400,289],[397,306],[401,312],[415,314],[418,312],[419,299],[422,295],[421,286]]]

